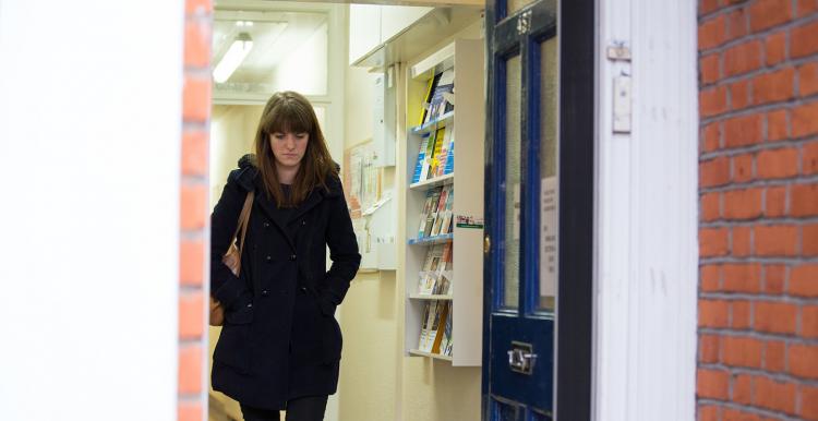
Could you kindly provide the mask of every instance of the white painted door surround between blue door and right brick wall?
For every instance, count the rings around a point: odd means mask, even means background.
[[[594,419],[693,420],[696,376],[696,2],[600,0]],[[633,61],[611,61],[623,41]],[[633,131],[612,133],[633,76]]]

